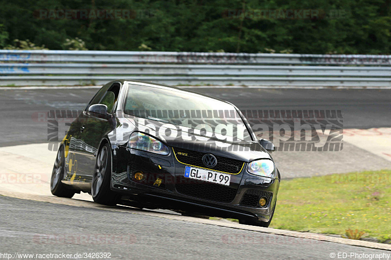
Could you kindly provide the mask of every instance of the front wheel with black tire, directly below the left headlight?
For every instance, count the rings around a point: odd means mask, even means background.
[[[110,189],[111,179],[111,149],[105,143],[96,157],[95,169],[91,182],[92,199],[103,205],[114,206],[118,195]]]

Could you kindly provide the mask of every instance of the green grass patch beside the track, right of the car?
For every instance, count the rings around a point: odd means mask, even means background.
[[[270,227],[391,239],[391,171],[282,180]]]

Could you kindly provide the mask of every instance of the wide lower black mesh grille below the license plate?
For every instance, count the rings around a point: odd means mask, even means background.
[[[183,195],[224,203],[234,200],[238,190],[230,186],[189,179],[183,176],[176,178],[175,189]]]

